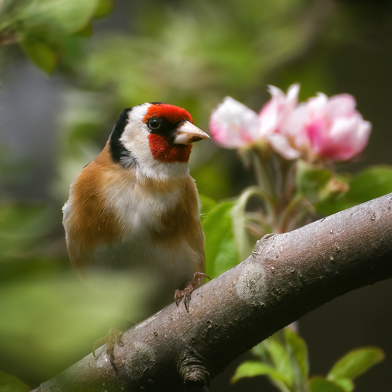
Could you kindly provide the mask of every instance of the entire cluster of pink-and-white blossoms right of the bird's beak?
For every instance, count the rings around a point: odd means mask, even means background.
[[[328,98],[318,93],[298,105],[298,84],[290,86],[287,94],[274,86],[269,86],[269,92],[271,99],[259,115],[226,97],[211,116],[214,140],[237,149],[263,140],[289,160],[348,160],[365,148],[371,124],[355,109],[352,95]]]

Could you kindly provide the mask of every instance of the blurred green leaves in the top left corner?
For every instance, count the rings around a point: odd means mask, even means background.
[[[92,32],[91,20],[113,10],[113,0],[3,0],[0,42],[18,43],[47,73],[81,56],[80,36]]]

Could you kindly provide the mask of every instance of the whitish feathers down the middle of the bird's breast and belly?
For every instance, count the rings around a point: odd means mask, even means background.
[[[157,217],[174,207],[180,192],[180,189],[176,189],[162,194],[148,194],[137,181],[132,187],[125,179],[123,183],[110,187],[107,206],[117,211],[123,235],[115,245],[96,248],[93,256],[95,265],[107,267],[109,261],[113,268],[155,270],[160,276],[171,280],[191,279],[200,265],[200,255],[185,239],[176,243],[175,247],[164,247],[162,243],[154,245],[150,234],[151,229],[159,232]]]

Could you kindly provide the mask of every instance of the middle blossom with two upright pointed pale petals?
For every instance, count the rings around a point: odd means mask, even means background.
[[[299,158],[301,152],[292,145],[289,134],[282,132],[282,125],[298,103],[299,84],[293,84],[287,94],[275,86],[269,86],[271,99],[260,111],[261,135],[271,147],[286,159]]]

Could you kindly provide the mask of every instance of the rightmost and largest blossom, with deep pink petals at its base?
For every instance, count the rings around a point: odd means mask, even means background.
[[[318,93],[288,116],[281,132],[291,138],[298,150],[308,150],[310,156],[348,160],[365,148],[371,130],[371,123],[364,121],[355,107],[350,94],[328,99]]]

